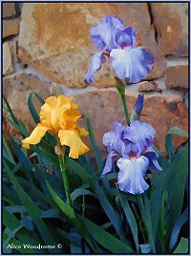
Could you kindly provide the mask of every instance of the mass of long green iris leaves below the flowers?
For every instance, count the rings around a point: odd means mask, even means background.
[[[39,122],[31,93],[28,105]],[[9,102],[6,117],[24,139],[30,135]],[[74,209],[66,200],[57,155],[50,133],[27,151],[19,139],[3,136],[3,252],[4,253],[187,253],[188,143],[175,152],[173,134],[187,137],[178,127],[166,137],[168,158],[159,153],[161,173],[147,175],[150,188],[142,195],[117,189],[117,173],[101,177],[105,160],[96,145],[90,119],[87,130],[94,151],[73,160],[65,155]],[[156,149],[157,150],[157,149]],[[13,151],[13,152],[12,152]],[[11,248],[8,245],[21,245]],[[55,245],[24,248],[22,245]],[[62,245],[57,247],[56,245]]]

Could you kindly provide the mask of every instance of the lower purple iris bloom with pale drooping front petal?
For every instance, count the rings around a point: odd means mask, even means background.
[[[149,185],[144,180],[147,169],[161,171],[158,154],[153,149],[156,132],[147,122],[133,121],[130,126],[115,123],[115,130],[103,136],[108,157],[102,176],[112,171],[117,160],[117,184],[120,190],[141,194]]]

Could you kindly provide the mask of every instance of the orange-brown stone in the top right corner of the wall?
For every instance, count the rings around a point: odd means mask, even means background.
[[[188,55],[188,3],[151,3],[163,55]]]

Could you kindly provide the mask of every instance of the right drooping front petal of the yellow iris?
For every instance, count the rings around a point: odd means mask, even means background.
[[[89,148],[82,142],[74,131],[60,130],[58,137],[61,145],[70,147],[69,157],[73,159],[78,159],[79,155],[83,155],[89,151]]]

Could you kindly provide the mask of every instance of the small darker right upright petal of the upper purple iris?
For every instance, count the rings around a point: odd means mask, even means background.
[[[123,31],[117,31],[116,42],[121,49],[127,46],[134,46],[136,43],[137,33],[132,27],[127,27]]]

